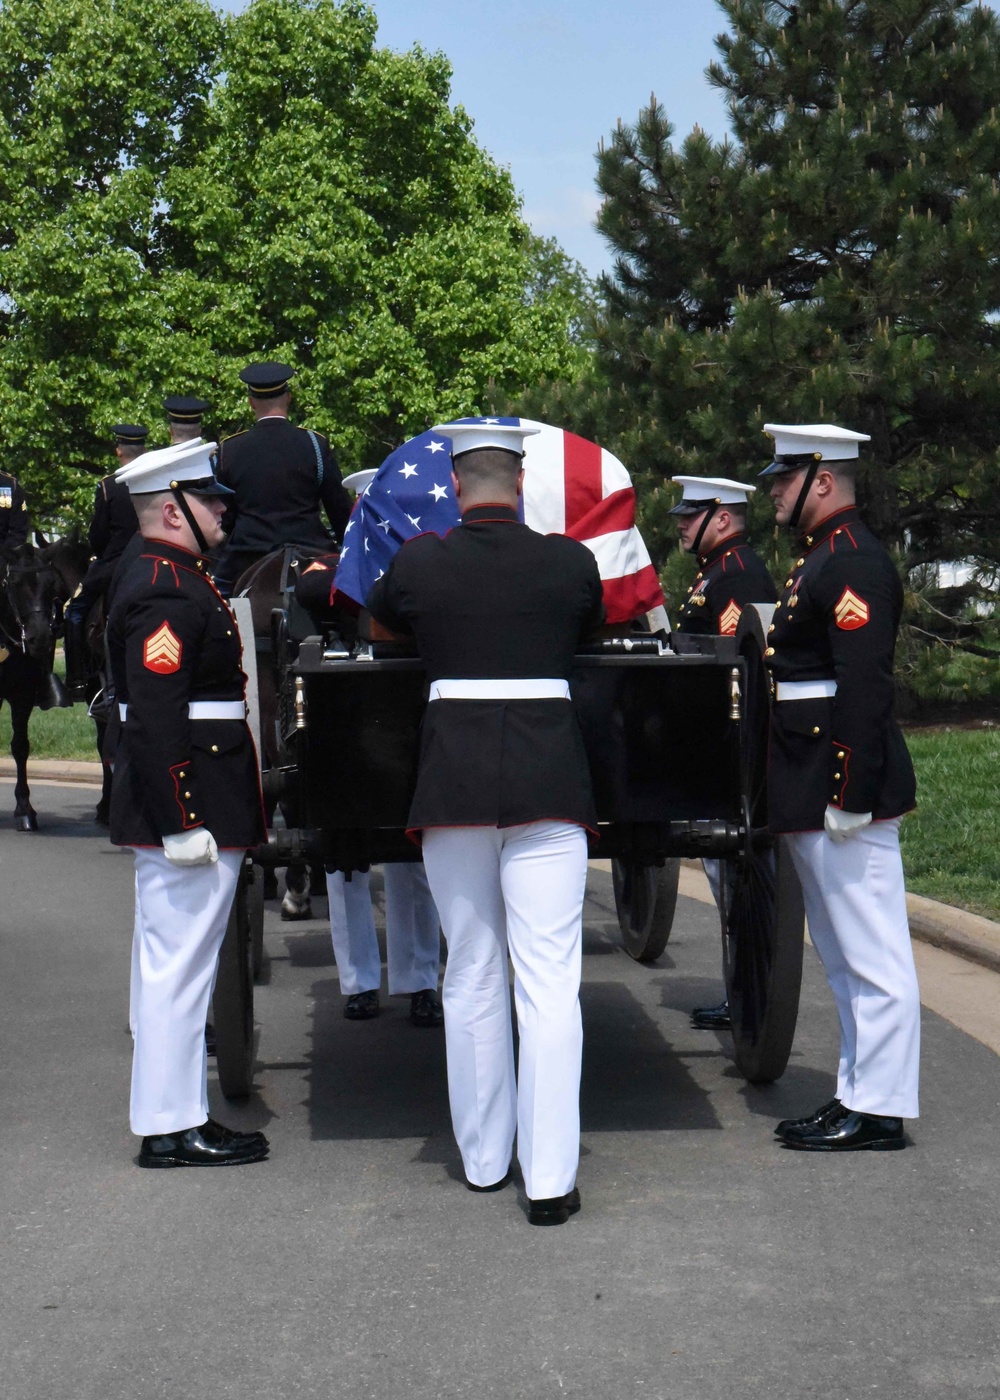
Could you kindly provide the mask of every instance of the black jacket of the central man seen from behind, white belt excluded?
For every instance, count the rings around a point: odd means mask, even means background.
[[[402,546],[368,595],[374,617],[413,633],[433,680],[569,680],[604,620],[591,552],[539,535],[507,505],[478,505],[440,538]],[[424,718],[409,827],[597,827],[587,755],[567,700],[434,700]]]

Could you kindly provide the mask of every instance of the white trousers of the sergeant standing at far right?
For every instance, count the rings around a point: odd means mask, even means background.
[[[846,841],[786,836],[805,917],[840,1018],[836,1096],[859,1113],[919,1113],[920,988],[913,966],[899,819]]]

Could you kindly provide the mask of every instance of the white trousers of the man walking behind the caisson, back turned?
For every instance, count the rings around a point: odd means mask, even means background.
[[[448,1096],[465,1175],[499,1182],[517,1130],[528,1197],[564,1196],[580,1162],[587,833],[566,822],[433,827],[423,857],[448,944]]]

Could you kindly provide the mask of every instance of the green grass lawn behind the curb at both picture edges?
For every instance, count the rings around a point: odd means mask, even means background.
[[[906,742],[917,771],[917,809],[902,826],[908,889],[1000,918],[1000,728],[910,729]],[[85,707],[35,710],[31,750],[97,760]],[[0,753],[8,752],[4,706]]]

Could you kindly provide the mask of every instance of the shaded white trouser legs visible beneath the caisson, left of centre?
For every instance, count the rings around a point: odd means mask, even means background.
[[[441,963],[441,923],[419,861],[382,867],[385,881],[385,948],[389,995],[437,990]],[[382,980],[378,934],[371,911],[368,872],[326,872],[331,903],[331,938],[340,977],[340,991],[377,991]]]

